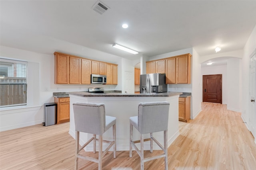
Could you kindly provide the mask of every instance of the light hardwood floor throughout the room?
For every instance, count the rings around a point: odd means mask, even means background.
[[[227,110],[226,105],[202,103],[196,119],[179,122],[180,135],[168,148],[169,170],[255,170],[256,144],[240,116],[241,113]],[[0,169],[74,169],[75,140],[68,130],[69,123],[63,123],[0,132]],[[149,151],[144,153],[152,155]],[[97,170],[98,164],[79,159],[78,168]],[[102,168],[139,170],[140,158],[136,151],[132,158],[129,151],[118,151],[116,159],[108,152]],[[164,158],[146,162],[145,169],[164,170]]]

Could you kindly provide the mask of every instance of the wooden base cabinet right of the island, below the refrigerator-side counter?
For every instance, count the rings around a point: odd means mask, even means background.
[[[188,121],[190,119],[190,96],[179,98],[179,121]]]

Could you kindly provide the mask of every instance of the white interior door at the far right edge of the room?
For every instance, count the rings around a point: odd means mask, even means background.
[[[250,131],[256,140],[256,102],[255,102],[255,81],[256,81],[256,50],[250,56],[250,104],[249,104],[249,122]]]

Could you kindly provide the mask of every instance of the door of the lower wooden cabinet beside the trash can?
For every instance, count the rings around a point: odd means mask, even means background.
[[[70,109],[69,102],[66,103],[59,103],[59,110],[57,115],[57,124],[64,123],[69,121],[69,109]]]

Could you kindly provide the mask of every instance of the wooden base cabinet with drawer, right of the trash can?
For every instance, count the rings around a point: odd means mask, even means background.
[[[70,121],[70,101],[69,98],[54,98],[57,104],[57,124]]]

